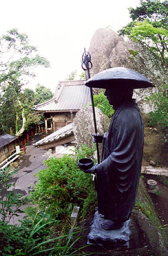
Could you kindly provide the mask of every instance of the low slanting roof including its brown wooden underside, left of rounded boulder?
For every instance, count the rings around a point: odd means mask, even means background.
[[[34,147],[51,148],[57,145],[63,145],[74,140],[73,123],[67,124],[56,132],[46,136],[42,140],[37,141]]]

